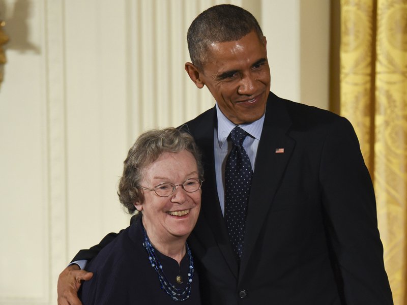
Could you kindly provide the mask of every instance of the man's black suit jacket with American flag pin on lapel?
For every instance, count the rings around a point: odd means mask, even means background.
[[[189,238],[202,302],[392,304],[374,192],[351,124],[270,93],[240,266],[217,195],[216,126],[215,108],[185,126],[202,150],[206,179]],[[74,260],[89,259],[80,254]]]

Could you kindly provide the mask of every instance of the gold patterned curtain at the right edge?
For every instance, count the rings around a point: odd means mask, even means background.
[[[407,305],[407,0],[341,0],[340,113],[372,176],[395,305]]]

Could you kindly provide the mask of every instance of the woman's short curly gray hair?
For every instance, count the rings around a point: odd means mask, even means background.
[[[162,153],[189,151],[198,166],[198,178],[203,179],[201,155],[193,137],[185,130],[177,128],[154,129],[141,134],[130,148],[124,161],[123,175],[119,182],[119,200],[129,214],[135,211],[134,204],[143,202],[140,182],[143,169],[156,161]]]

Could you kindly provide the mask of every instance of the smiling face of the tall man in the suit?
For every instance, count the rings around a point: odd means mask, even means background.
[[[199,77],[223,114],[235,124],[251,123],[266,110],[270,68],[266,38],[253,31],[240,40],[213,43]]]

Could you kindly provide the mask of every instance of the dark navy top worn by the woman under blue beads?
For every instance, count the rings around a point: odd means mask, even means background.
[[[173,300],[161,289],[158,274],[149,263],[143,241],[140,220],[125,229],[86,265],[86,270],[94,272],[94,275],[90,281],[83,282],[79,292],[83,305],[200,304],[196,271],[189,298],[185,301]],[[157,250],[155,252],[169,281],[177,288],[184,288],[190,265],[188,255],[184,256],[179,265],[176,260]],[[184,279],[183,284],[177,284],[178,275]]]

